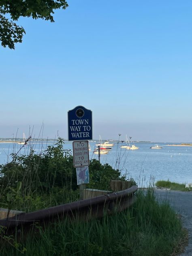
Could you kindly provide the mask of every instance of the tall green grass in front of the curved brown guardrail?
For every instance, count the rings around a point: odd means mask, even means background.
[[[168,256],[183,236],[181,221],[168,203],[158,203],[154,191],[137,192],[137,201],[121,213],[83,222],[67,219],[37,234],[23,235],[15,247],[2,246],[0,255],[18,256]],[[17,241],[16,241],[17,242]]]

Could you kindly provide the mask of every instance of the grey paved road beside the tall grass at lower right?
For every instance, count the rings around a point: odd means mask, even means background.
[[[180,256],[192,256],[192,192],[156,189],[157,197],[168,200],[170,205],[181,214],[183,226],[189,232],[189,244]]]

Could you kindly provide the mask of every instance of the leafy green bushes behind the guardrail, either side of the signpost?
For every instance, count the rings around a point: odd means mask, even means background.
[[[12,154],[12,162],[0,166],[0,207],[34,211],[78,200],[76,170],[71,151],[58,138],[41,154],[31,149],[25,156]],[[109,164],[91,160],[90,188],[109,190],[111,179],[125,180]]]

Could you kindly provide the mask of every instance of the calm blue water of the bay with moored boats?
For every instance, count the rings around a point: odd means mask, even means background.
[[[167,143],[166,143],[167,144]],[[139,186],[146,186],[149,181],[158,181],[160,179],[175,181],[179,183],[192,183],[192,147],[174,147],[162,145],[162,149],[150,149],[154,144],[135,143],[139,147],[137,150],[121,149],[117,143],[113,146],[109,154],[101,155],[102,164],[109,163],[114,168],[121,170],[122,175],[133,177],[139,183]],[[177,143],[173,143],[177,144]],[[33,145],[36,152],[45,150],[47,145],[53,143],[36,143]],[[93,154],[95,143],[90,143],[90,159],[98,159],[98,155]],[[19,150],[21,145],[15,145],[15,151]],[[66,142],[64,148],[72,149],[72,143]],[[30,145],[21,150],[21,154],[27,154]],[[0,164],[11,161],[9,154],[13,152],[12,143],[0,143]]]

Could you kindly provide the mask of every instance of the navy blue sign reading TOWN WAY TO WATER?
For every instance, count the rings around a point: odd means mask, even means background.
[[[68,140],[92,140],[92,111],[77,106],[68,111]]]

